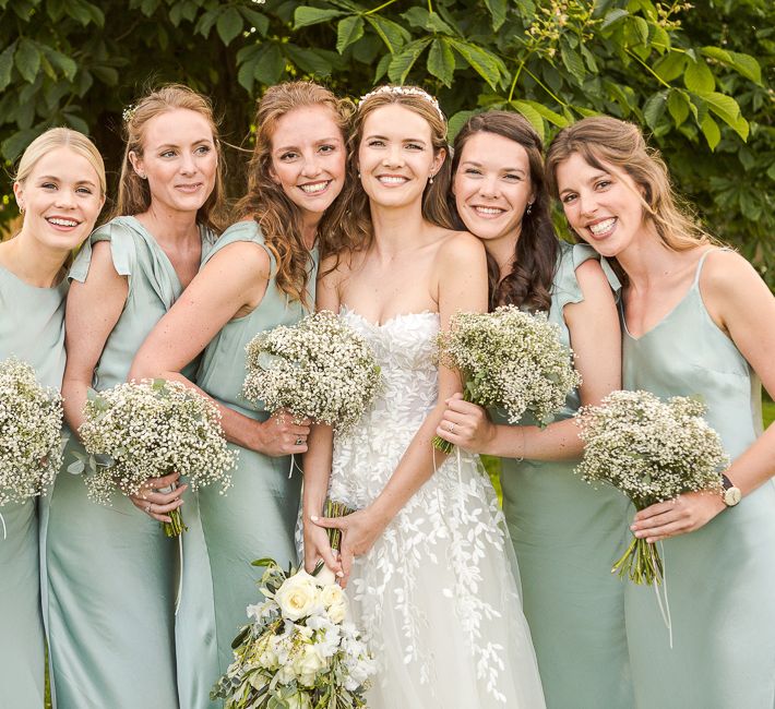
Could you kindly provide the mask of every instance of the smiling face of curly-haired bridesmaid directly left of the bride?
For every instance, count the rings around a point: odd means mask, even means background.
[[[331,108],[301,106],[277,120],[270,176],[299,207],[305,221],[317,223],[342,192],[346,157]]]

